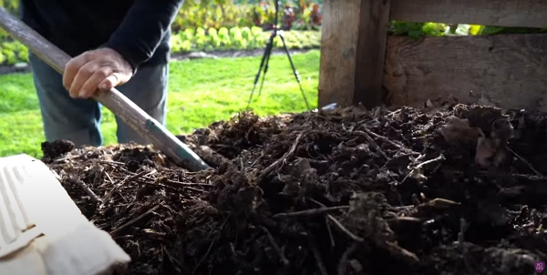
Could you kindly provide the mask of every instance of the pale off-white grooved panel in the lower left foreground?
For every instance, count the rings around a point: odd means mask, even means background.
[[[27,155],[0,158],[0,275],[108,274],[129,261],[43,162]]]

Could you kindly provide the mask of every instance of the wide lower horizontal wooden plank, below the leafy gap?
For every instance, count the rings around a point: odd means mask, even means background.
[[[547,110],[546,76],[545,34],[387,38],[384,86],[394,106],[453,95],[461,103]]]

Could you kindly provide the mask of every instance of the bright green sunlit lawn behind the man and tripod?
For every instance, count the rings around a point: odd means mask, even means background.
[[[260,58],[172,62],[167,115],[170,131],[191,133],[195,128],[228,119],[246,107]],[[306,97],[312,107],[316,107],[319,51],[294,54],[293,59]],[[18,153],[40,156],[44,134],[32,75],[0,76],[0,97],[0,156]],[[304,99],[286,56],[271,57],[263,93],[253,98],[253,110],[260,116],[305,110]],[[105,145],[114,144],[117,142],[114,117],[107,109],[103,115],[101,128]]]

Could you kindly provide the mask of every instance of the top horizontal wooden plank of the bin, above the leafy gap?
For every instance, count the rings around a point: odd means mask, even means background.
[[[392,0],[391,20],[547,27],[544,0]]]

